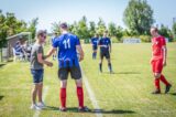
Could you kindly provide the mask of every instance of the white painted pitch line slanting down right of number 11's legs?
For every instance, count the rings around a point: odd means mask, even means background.
[[[92,92],[90,85],[89,85],[89,82],[88,82],[88,78],[86,77],[82,68],[81,68],[81,74],[82,74],[82,77],[84,77],[84,83],[85,83],[85,86],[86,86],[86,89],[88,92],[88,95],[90,97],[90,100],[91,100],[91,104],[94,106],[95,109],[97,109],[95,113],[96,113],[96,116],[97,117],[102,117],[102,114],[101,114],[101,110],[100,110],[100,107],[98,105],[98,102],[96,99],[96,96],[95,96],[95,93]]]

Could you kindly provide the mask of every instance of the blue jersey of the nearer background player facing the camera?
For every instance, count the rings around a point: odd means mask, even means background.
[[[101,38],[99,41],[99,45],[106,45],[106,46],[100,46],[100,51],[109,51],[109,46],[111,45],[111,40],[109,38]]]

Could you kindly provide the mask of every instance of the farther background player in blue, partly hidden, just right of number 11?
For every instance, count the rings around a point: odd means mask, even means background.
[[[97,50],[98,50],[98,34],[95,34],[95,36],[91,39],[91,45],[92,45],[92,59],[97,57]]]

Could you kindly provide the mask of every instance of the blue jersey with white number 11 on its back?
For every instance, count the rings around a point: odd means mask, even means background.
[[[80,45],[79,39],[70,33],[62,34],[53,42],[53,47],[58,47],[59,67],[79,66],[76,45]]]

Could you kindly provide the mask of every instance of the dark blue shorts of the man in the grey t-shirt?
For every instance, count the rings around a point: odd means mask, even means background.
[[[42,83],[44,70],[31,70],[31,74],[33,76],[33,83]]]

